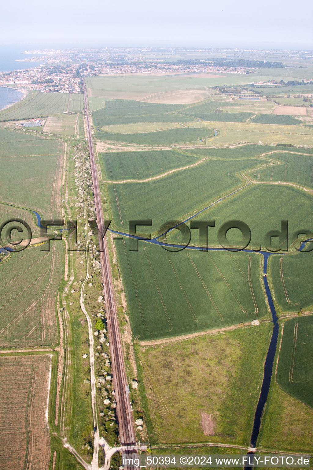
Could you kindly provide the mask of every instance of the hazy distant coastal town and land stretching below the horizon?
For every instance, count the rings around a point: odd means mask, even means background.
[[[195,59],[195,55],[203,58]],[[0,86],[28,88],[46,93],[82,93],[82,78],[86,76],[126,73],[231,73],[254,74],[262,68],[288,68],[284,60],[298,58],[312,62],[312,51],[262,51],[247,49],[182,49],[182,48],[99,48],[83,50],[24,51],[19,62],[40,66],[0,72]],[[251,57],[255,57],[251,59]],[[271,60],[269,61],[268,58]],[[299,65],[305,68],[305,65]],[[309,80],[312,82],[313,78]],[[262,82],[255,86],[280,86]],[[303,82],[304,83],[304,82]]]

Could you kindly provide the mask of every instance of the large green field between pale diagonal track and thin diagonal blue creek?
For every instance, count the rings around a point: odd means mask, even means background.
[[[156,233],[168,220],[184,220],[224,192],[231,192],[231,188],[241,182],[235,172],[247,170],[257,163],[251,159],[206,160],[159,180],[108,184],[113,223],[128,232],[129,219],[153,219],[151,233]],[[210,219],[210,213],[204,212],[200,218]]]

